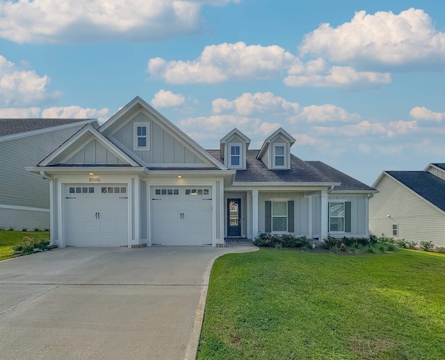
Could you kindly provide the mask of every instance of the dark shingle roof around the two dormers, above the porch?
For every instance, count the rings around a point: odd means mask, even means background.
[[[219,150],[207,150],[207,152],[221,163],[224,163],[223,159],[220,158]],[[334,189],[375,190],[323,164],[323,162],[305,162],[295,155],[291,155],[290,170],[270,170],[261,160],[257,159],[258,153],[259,150],[248,150],[246,169],[236,171],[236,182],[341,182],[341,186]]]

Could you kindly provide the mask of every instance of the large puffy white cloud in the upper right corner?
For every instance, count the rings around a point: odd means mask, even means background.
[[[300,53],[350,65],[443,65],[445,33],[435,30],[423,10],[359,11],[337,28],[321,24],[305,36]]]

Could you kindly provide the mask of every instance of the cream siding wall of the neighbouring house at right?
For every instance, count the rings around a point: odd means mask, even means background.
[[[369,200],[371,234],[445,246],[444,212],[389,175],[383,175],[376,189],[380,192]],[[393,224],[398,225],[397,236],[392,234]]]

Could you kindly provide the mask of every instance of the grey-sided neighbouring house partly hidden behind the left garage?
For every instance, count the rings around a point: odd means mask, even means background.
[[[0,228],[49,228],[49,182],[25,170],[95,119],[0,119]]]

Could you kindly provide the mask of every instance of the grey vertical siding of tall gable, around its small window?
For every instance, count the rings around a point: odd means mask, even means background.
[[[149,123],[149,150],[133,150],[134,123]],[[204,162],[188,148],[177,141],[156,121],[147,117],[143,112],[137,114],[111,137],[124,145],[145,164],[203,164]]]

